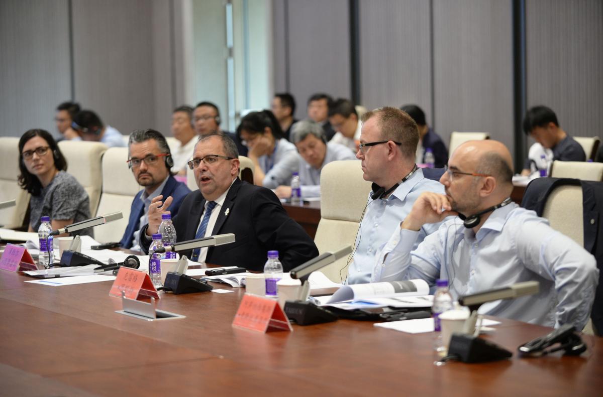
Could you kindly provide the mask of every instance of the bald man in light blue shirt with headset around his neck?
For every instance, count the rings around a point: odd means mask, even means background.
[[[421,278],[435,286],[443,278],[449,280],[454,299],[538,281],[536,295],[489,302],[479,312],[547,327],[573,324],[582,330],[599,279],[595,258],[553,230],[548,220],[511,202],[512,164],[500,142],[459,146],[440,179],[446,195],[423,193],[415,201],[377,254],[373,281]],[[448,215],[455,218],[412,249],[420,228]]]

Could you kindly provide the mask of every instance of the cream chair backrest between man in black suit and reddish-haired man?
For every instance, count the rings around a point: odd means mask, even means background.
[[[332,161],[320,173],[320,222],[314,243],[322,254],[345,245],[354,246],[362,211],[367,205],[370,182],[362,178],[358,160]],[[348,258],[342,258],[323,272],[330,280],[341,283],[347,277]]]

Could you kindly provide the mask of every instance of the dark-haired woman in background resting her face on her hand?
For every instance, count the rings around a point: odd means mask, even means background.
[[[243,117],[236,136],[249,148],[256,185],[276,189],[291,184],[299,156],[295,145],[284,138],[279,122],[270,110],[253,111]]]

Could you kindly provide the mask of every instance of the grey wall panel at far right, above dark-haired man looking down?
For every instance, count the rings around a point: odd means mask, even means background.
[[[603,2],[526,0],[528,107],[546,105],[572,136],[603,139]]]

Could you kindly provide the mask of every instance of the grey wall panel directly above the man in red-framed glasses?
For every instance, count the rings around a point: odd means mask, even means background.
[[[129,134],[155,127],[153,3],[73,2],[75,99]]]

